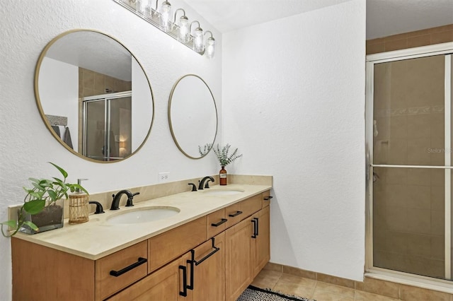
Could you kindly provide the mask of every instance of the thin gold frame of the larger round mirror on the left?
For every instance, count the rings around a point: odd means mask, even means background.
[[[125,50],[127,50],[127,52],[130,53],[131,57],[133,57],[135,59],[135,61],[137,61],[137,64],[140,66],[140,68],[142,69],[143,71],[143,75],[144,75],[144,78],[146,78],[147,80],[147,83],[148,83],[148,87],[149,87],[149,91],[151,93],[151,108],[152,108],[152,114],[151,114],[151,122],[149,124],[149,129],[148,129],[148,132],[146,134],[146,136],[144,136],[144,140],[142,141],[142,143],[137,147],[137,149],[135,149],[134,151],[132,151],[130,153],[130,155],[127,155],[126,157],[124,158],[120,158],[120,159],[117,159],[117,160],[111,160],[111,161],[103,161],[103,160],[95,160],[93,158],[88,158],[86,157],[85,155],[82,155],[81,153],[79,152],[76,152],[74,151],[74,149],[70,148],[69,146],[67,146],[66,143],[64,143],[64,141],[62,141],[62,138],[60,138],[59,136],[57,136],[57,133],[55,133],[55,131],[52,129],[52,126],[51,124],[48,122],[47,120],[47,117],[45,115],[45,112],[44,110],[42,109],[42,105],[41,105],[41,99],[40,99],[40,93],[39,93],[39,88],[38,88],[38,83],[39,83],[39,74],[40,74],[40,68],[41,68],[41,64],[42,64],[42,60],[45,58],[46,54],[47,54],[47,51],[50,49],[50,47],[52,47],[52,45],[54,45],[55,42],[57,42],[57,40],[59,40],[60,38],[66,36],[66,35],[70,35],[71,33],[78,33],[78,32],[89,32],[89,33],[98,33],[100,35],[104,35],[105,37],[108,37],[110,39],[112,39],[113,41],[117,42],[119,45],[121,45],[122,47],[124,47]],[[42,118],[42,121],[44,122],[45,126],[47,127],[47,130],[50,131],[50,134],[52,134],[52,136],[54,136],[55,139],[57,139],[57,141],[64,147],[66,148],[69,152],[73,153],[74,155],[77,155],[79,158],[82,158],[84,160],[88,160],[88,161],[91,161],[93,163],[116,163],[116,162],[120,162],[122,160],[125,160],[127,158],[130,158],[132,155],[134,155],[135,153],[137,153],[143,146],[144,146],[144,143],[147,142],[148,138],[149,138],[149,134],[151,133],[151,129],[152,129],[152,126],[153,126],[153,123],[154,123],[154,94],[153,94],[153,90],[151,89],[151,84],[149,83],[149,78],[147,76],[147,73],[144,72],[144,69],[143,69],[143,66],[142,64],[140,64],[140,62],[137,60],[137,57],[134,56],[134,54],[132,54],[132,52],[130,52],[130,50],[125,47],[125,45],[123,45],[120,41],[118,41],[117,39],[115,39],[114,37],[106,34],[106,33],[102,33],[101,31],[98,31],[98,30],[92,30],[92,29],[75,29],[75,30],[68,30],[64,33],[61,33],[59,35],[57,35],[57,37],[54,37],[45,47],[44,49],[42,49],[42,52],[40,54],[40,57],[38,58],[38,63],[36,64],[36,67],[35,67],[35,79],[34,79],[34,90],[35,90],[35,100],[36,100],[36,105],[38,107],[38,110],[40,112],[40,115],[41,115],[41,118]],[[80,126],[79,126],[80,127]]]

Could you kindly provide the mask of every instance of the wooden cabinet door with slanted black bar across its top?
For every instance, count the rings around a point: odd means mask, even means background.
[[[225,300],[225,234],[220,233],[212,240],[195,248],[193,266],[193,301]],[[190,269],[188,270],[190,271]],[[190,278],[190,277],[189,277]]]

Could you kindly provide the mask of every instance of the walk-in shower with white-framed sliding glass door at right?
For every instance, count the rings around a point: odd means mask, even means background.
[[[367,271],[452,280],[452,53],[367,56]]]

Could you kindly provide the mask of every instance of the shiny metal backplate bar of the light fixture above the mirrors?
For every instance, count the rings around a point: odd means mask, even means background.
[[[168,20],[168,23],[171,23],[171,26],[170,26],[171,28],[169,28],[168,30],[165,30],[162,28],[162,24],[161,24],[162,15],[157,8],[157,1],[156,1],[156,8],[152,8],[151,1],[149,1],[149,11],[150,11],[149,16],[147,16],[147,14],[143,13],[142,10],[137,10],[137,7],[136,7],[137,2],[138,2],[137,0],[113,0],[113,1],[115,1],[117,4],[120,4],[120,6],[126,8],[128,11],[139,16],[143,20],[147,21],[148,23],[153,25],[155,28],[161,30],[162,33],[166,33],[167,35],[169,35],[170,37],[173,37],[173,39],[177,40],[181,44],[185,45],[186,47],[189,47],[197,54],[200,54],[200,55],[205,54],[205,47],[202,47],[202,49],[197,49],[198,51],[194,49],[193,43],[194,43],[195,38],[193,37],[193,35],[191,35],[191,33],[188,33],[187,41],[181,40],[181,38],[179,36],[180,28],[178,26],[178,23],[173,22],[173,20],[171,20],[173,18],[173,16],[171,16],[170,19]],[[178,8],[178,9],[180,9],[180,8]],[[184,16],[185,16],[185,14],[184,14]]]

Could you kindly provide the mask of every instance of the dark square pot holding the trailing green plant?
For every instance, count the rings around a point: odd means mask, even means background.
[[[42,209],[42,211],[38,214],[25,215],[25,220],[37,225],[39,228],[38,231],[31,229],[28,225],[23,225],[19,231],[27,234],[36,234],[62,228],[64,224],[63,201],[64,200],[60,199],[51,205],[45,206],[44,209]]]

